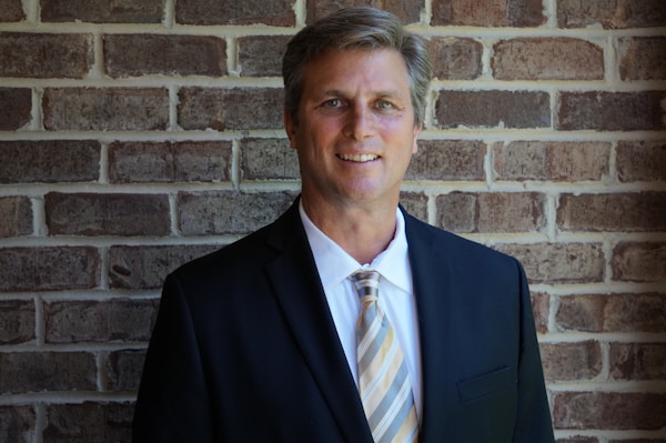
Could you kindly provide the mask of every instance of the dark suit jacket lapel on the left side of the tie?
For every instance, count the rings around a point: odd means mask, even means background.
[[[269,243],[281,251],[266,269],[269,279],[331,414],[347,441],[372,442],[297,203],[273,224]]]

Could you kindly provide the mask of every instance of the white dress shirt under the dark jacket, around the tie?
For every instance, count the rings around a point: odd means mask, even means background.
[[[418,323],[412,269],[407,256],[407,238],[402,212],[396,210],[395,236],[389,248],[372,263],[362,265],[314,225],[302,204],[299,209],[329,309],[356,386],[359,386],[359,371],[355,329],[361,312],[361,302],[350,275],[361,268],[371,268],[382,275],[380,279],[380,306],[389,318],[402,346],[410,372],[416,415],[421,420],[421,348],[418,346]]]

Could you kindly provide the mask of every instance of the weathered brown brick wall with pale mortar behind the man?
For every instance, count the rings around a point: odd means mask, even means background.
[[[343,3],[0,0],[0,441],[129,441],[167,272],[299,191],[281,52]],[[525,264],[558,442],[666,442],[666,2],[372,3],[436,67],[403,204]]]

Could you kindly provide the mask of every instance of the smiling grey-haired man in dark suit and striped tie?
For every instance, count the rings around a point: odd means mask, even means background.
[[[422,41],[386,12],[342,10],[294,37],[283,75],[302,194],[168,276],[134,441],[552,442],[522,266],[398,207]],[[367,318],[386,342],[359,332]]]

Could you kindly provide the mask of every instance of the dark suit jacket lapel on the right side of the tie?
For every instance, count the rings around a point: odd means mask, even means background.
[[[404,211],[403,211],[404,212]],[[446,373],[451,340],[447,315],[450,306],[451,266],[442,244],[437,244],[434,228],[405,213],[405,231],[418,313],[423,376],[423,417],[420,442],[445,441]]]

